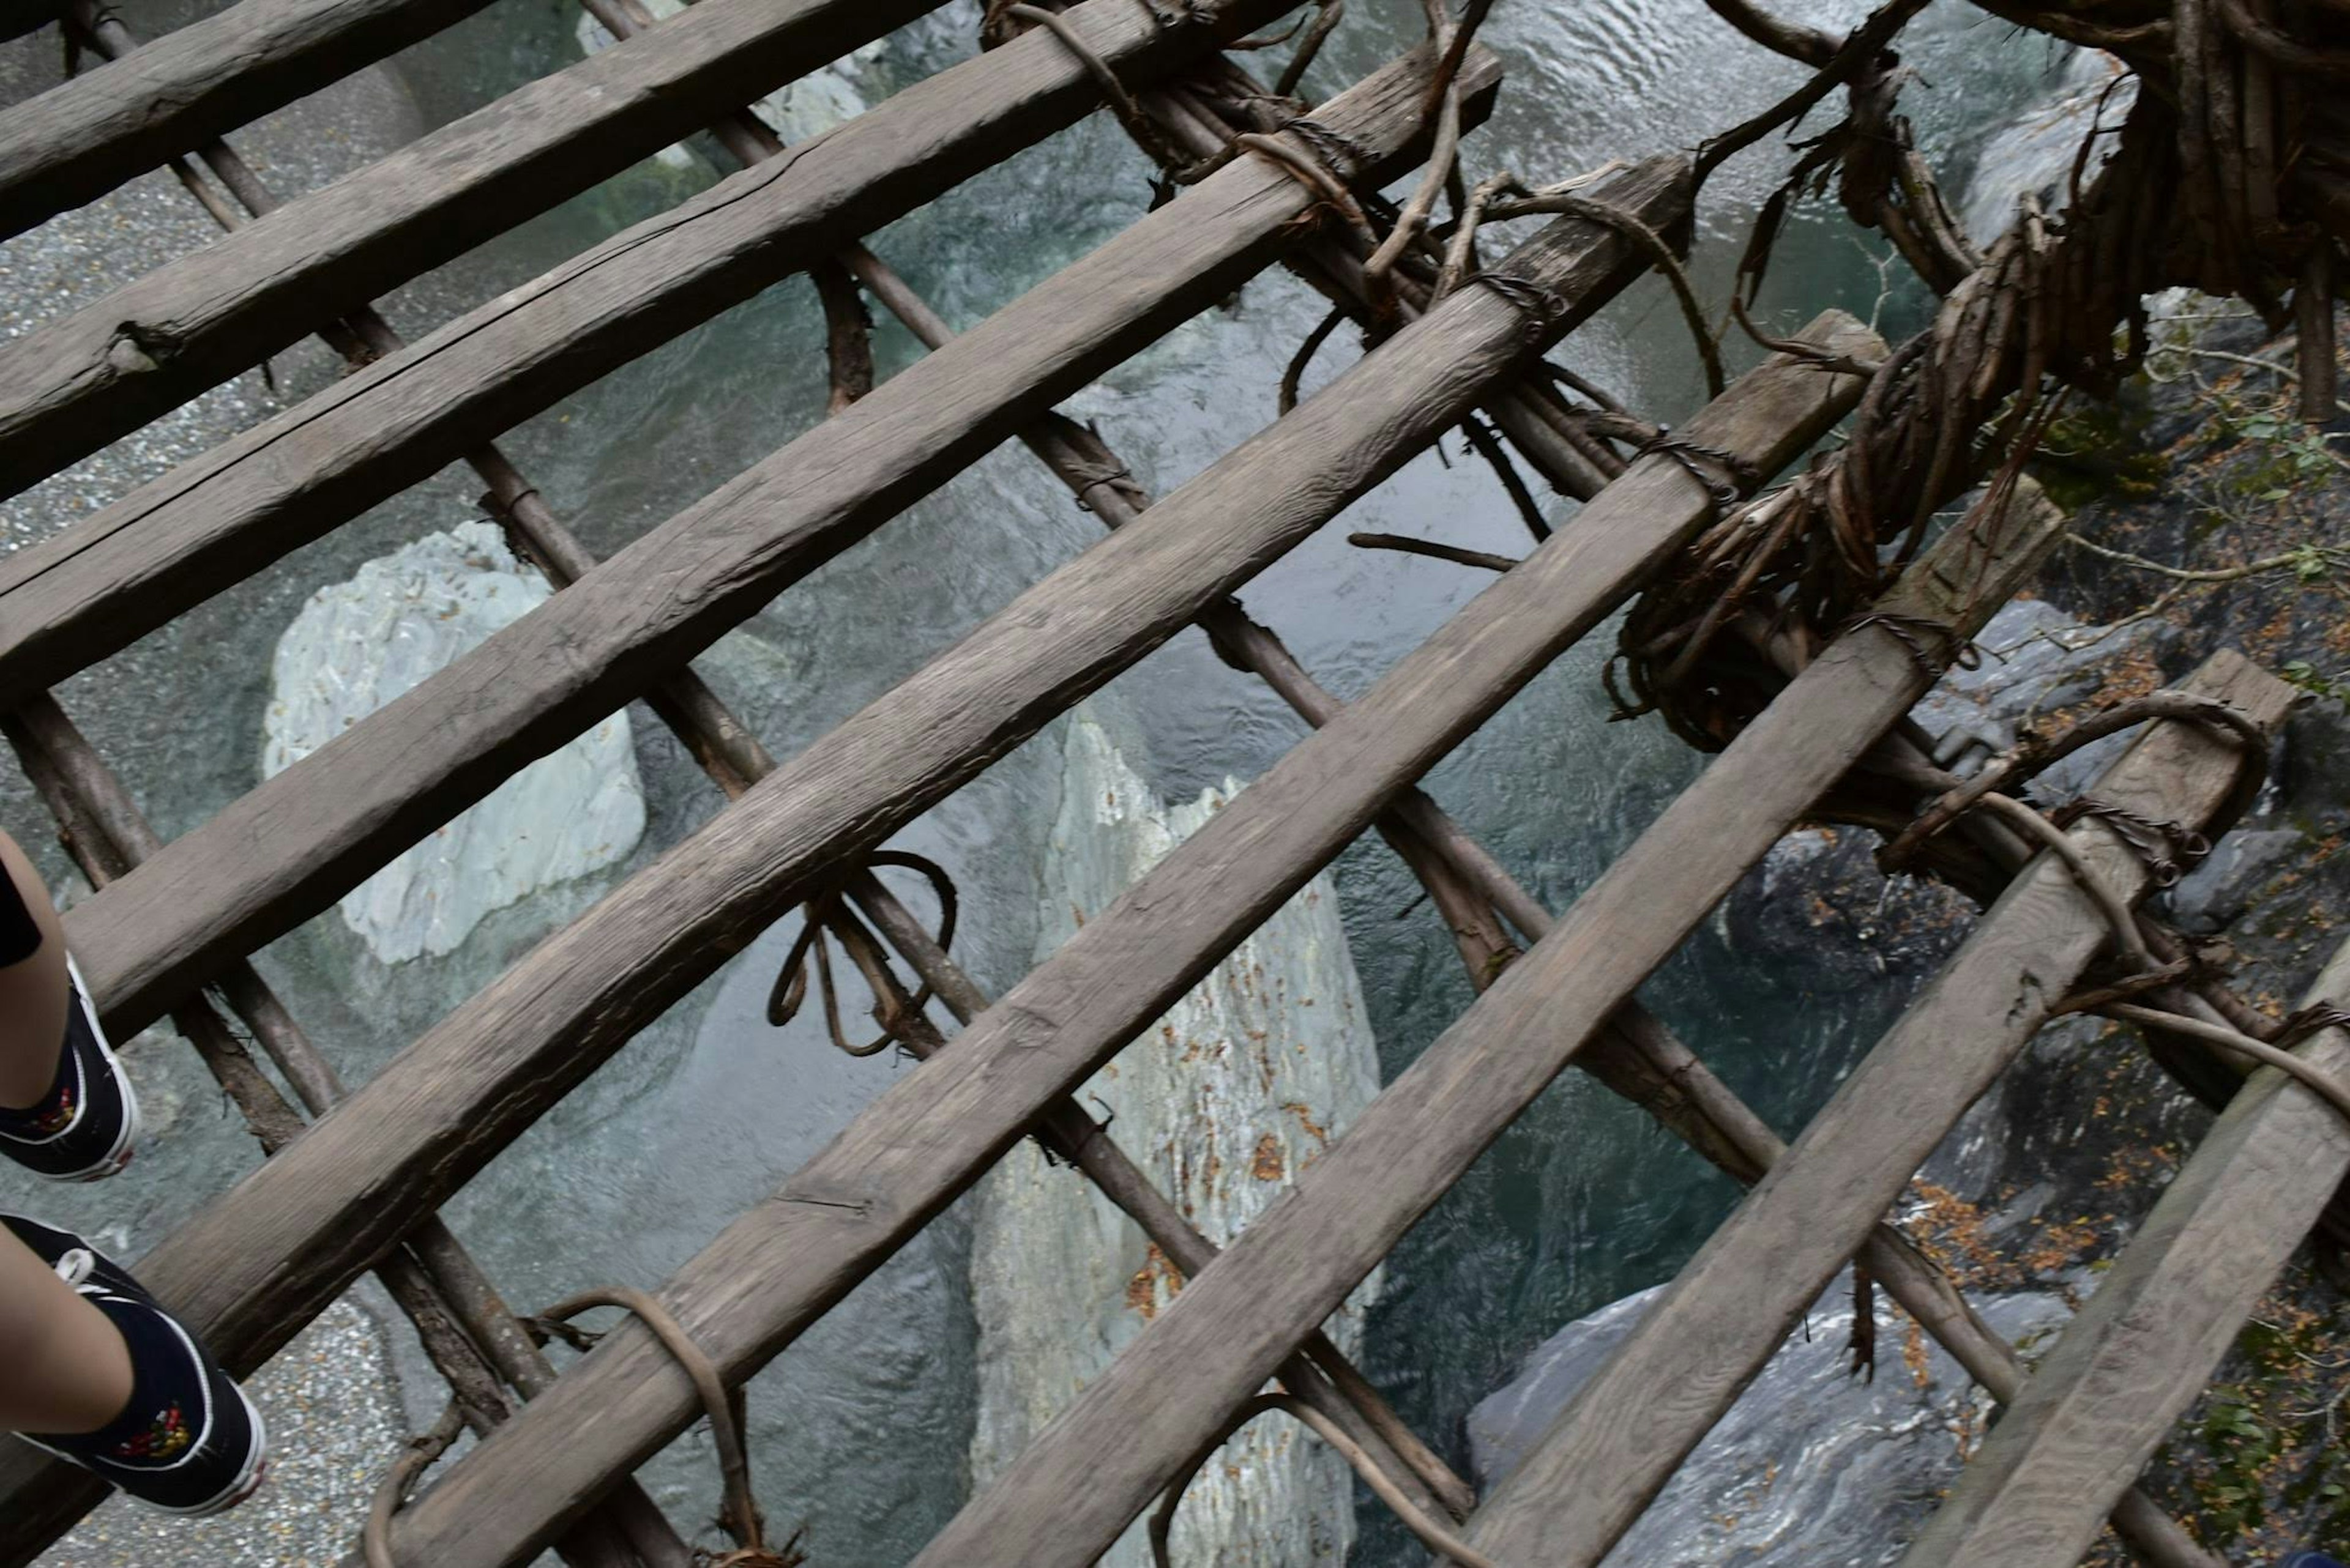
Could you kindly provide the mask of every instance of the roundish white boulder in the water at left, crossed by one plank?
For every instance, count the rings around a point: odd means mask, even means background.
[[[277,639],[263,776],[280,773],[548,599],[486,522],[320,588]],[[491,910],[611,865],[644,832],[627,712],[508,778],[343,898],[385,964],[451,952]]]

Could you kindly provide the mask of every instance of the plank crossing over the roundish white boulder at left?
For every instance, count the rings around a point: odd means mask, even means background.
[[[1370,179],[1419,136],[1426,59],[1422,47],[1318,113],[1382,162]],[[1490,85],[1492,56],[1476,71]],[[1661,214],[1678,212],[1671,193],[1661,167],[1626,186]],[[329,907],[1050,402],[1224,299],[1316,195],[1269,158],[1229,165],[230,804],[73,912],[92,994],[127,1032]],[[1579,284],[1619,273],[1614,249],[1577,261]]]

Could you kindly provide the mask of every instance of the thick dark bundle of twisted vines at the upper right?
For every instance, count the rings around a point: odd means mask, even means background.
[[[1847,207],[1899,223],[1955,282],[1934,324],[1875,369],[1847,444],[1718,517],[1626,616],[1610,668],[1619,712],[1661,712],[1701,750],[1727,745],[1781,684],[1751,639],[1725,639],[1725,630],[1755,616],[1767,632],[1824,642],[1915,559],[1941,505],[2030,451],[2063,395],[2044,390],[2052,381],[2110,393],[2146,353],[2141,296],[2162,287],[2157,242],[2171,226],[2167,110],[2141,99],[2113,158],[2061,219],[2028,202],[1967,266],[1974,252],[1946,223],[1906,139],[1861,134],[1889,125],[1889,71],[1864,73],[1854,118],[1810,143],[1765,205],[1739,268],[1739,303],[1753,303],[1786,200],[1835,167]]]

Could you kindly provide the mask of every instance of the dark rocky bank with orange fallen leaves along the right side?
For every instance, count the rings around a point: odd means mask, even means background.
[[[2164,353],[2113,409],[2059,425],[2042,473],[2087,543],[2052,559],[2033,597],[1979,639],[1983,663],[1920,705],[1943,762],[1972,766],[2026,726],[2178,679],[2232,646],[2308,698],[2268,790],[2211,858],[2155,910],[2221,940],[2237,990],[2277,1016],[2350,936],[2350,465],[2331,430],[2291,418],[2291,343],[2237,308],[2169,301]],[[2287,371],[2261,369],[2287,367]],[[2115,555],[2117,552],[2117,555]],[[2134,559],[2122,559],[2134,557]],[[2186,581],[2169,569],[2230,571]],[[2061,802],[2124,743],[2087,748],[2037,785]],[[1732,893],[1730,940],[1802,957],[1826,992],[1913,992],[1965,940],[1974,905],[1887,879],[1868,832],[1784,839]],[[2211,1110],[2099,1020],[2044,1030],[1976,1103],[1906,1199],[1911,1232],[2030,1356],[2096,1288]],[[2341,1441],[2350,1305],[2341,1255],[2305,1246],[2237,1338],[2214,1387],[2178,1422],[2148,1488],[2232,1563],[2350,1542]],[[1480,1476],[1509,1469],[1596,1371],[1650,1293],[1570,1324],[1469,1420]],[[1889,1302],[1878,1305],[1875,1380],[1849,1375],[1849,1286],[1805,1328],[1692,1455],[1610,1563],[1852,1566],[1899,1559],[1981,1439],[1990,1410]],[[2129,1561],[2108,1540],[2094,1561]]]

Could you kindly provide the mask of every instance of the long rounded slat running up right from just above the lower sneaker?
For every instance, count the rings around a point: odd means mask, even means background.
[[[1598,195],[1673,228],[1687,216],[1687,165],[1626,172]],[[1257,200],[1290,197],[1267,190]],[[1567,219],[1509,266],[1560,292],[1563,331],[1645,261],[1612,230]],[[226,1361],[266,1356],[416,1215],[437,1208],[815,879],[1142,658],[1457,421],[1539,341],[1525,322],[1497,292],[1471,289],[1349,367],[540,943],[141,1260],[141,1279],[188,1314]],[[956,343],[978,339],[973,331]],[[639,585],[656,595],[660,574],[639,574]],[[548,609],[576,592],[564,590]],[[40,1486],[38,1472],[19,1455],[0,1455],[0,1533],[7,1497],[28,1486]]]

